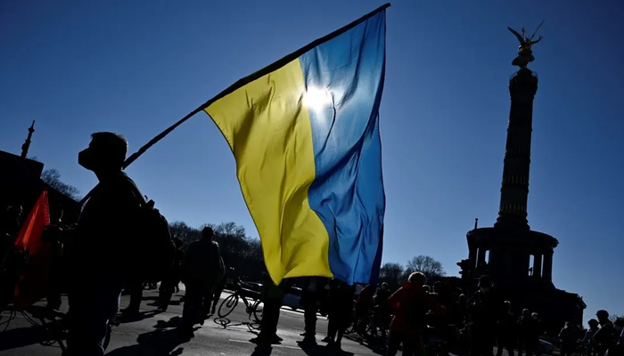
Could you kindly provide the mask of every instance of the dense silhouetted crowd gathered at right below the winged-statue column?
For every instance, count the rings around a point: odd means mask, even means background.
[[[336,348],[351,328],[360,336],[377,339],[389,356],[397,354],[399,344],[403,355],[429,349],[428,354],[492,356],[495,346],[497,356],[505,350],[510,356],[516,351],[519,356],[542,353],[540,337],[545,330],[538,313],[523,309],[518,317],[488,276],[480,278],[479,290],[470,297],[439,281],[432,286],[426,283],[424,274],[415,272],[394,293],[384,283],[365,286],[354,295],[355,288],[340,281],[329,280],[326,287],[316,282],[304,288],[301,298],[306,316],[304,341],[314,341],[316,312],[320,310],[329,319],[328,336],[323,341]],[[328,297],[325,289],[329,289]],[[624,320],[611,321],[606,311],[596,312],[596,318],[589,320],[587,330],[571,321],[565,323],[557,337],[563,356],[624,355]]]

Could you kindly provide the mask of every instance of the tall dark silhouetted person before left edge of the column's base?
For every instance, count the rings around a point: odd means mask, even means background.
[[[468,302],[470,310],[470,356],[492,356],[497,336],[498,317],[503,301],[493,290],[488,276],[479,279],[479,291]]]

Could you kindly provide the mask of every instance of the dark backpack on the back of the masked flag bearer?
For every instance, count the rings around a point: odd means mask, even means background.
[[[145,201],[141,191],[126,176],[139,203],[136,211],[135,237],[130,243],[130,276],[135,281],[158,283],[171,273],[176,258],[176,246],[171,239],[167,219]]]

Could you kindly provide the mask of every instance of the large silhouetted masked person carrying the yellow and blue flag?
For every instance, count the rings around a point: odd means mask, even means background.
[[[78,164],[97,176],[70,240],[70,355],[103,355],[106,324],[119,310],[132,256],[124,248],[135,240],[140,193],[122,172],[127,141],[119,134],[95,133]]]

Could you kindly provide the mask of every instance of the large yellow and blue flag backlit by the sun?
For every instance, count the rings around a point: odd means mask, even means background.
[[[375,282],[385,195],[385,9],[245,77],[203,109],[236,159],[271,278]]]

